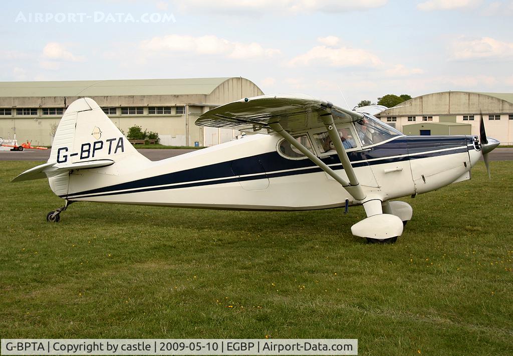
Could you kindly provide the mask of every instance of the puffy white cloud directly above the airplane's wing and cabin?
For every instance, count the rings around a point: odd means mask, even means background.
[[[382,62],[376,55],[364,49],[326,46],[315,46],[288,62],[291,67],[315,64],[331,67],[377,67]]]

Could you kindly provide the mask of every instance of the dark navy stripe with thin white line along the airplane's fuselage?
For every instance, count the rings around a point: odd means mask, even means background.
[[[409,159],[420,159],[467,152],[468,138],[450,137],[401,137],[382,145],[348,152],[354,168]],[[446,151],[440,151],[445,149]],[[436,152],[433,152],[436,151]],[[343,169],[337,154],[321,158],[333,170]],[[277,152],[244,157],[233,161],[210,164],[173,172],[159,176],[138,179],[126,183],[114,184],[102,188],[62,195],[63,198],[87,198],[106,195],[151,192],[189,188],[191,186],[223,184],[236,181],[284,177],[322,172],[318,166],[312,166],[309,159],[290,160]]]

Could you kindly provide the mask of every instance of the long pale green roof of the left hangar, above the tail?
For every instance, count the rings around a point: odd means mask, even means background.
[[[232,78],[0,82],[0,97],[209,95],[230,79]]]

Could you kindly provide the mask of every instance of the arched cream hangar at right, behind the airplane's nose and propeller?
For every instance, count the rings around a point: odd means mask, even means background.
[[[486,135],[513,144],[513,93],[444,91],[412,98],[379,118],[406,135]]]

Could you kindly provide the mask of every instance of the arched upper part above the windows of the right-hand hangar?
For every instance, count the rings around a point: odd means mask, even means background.
[[[513,113],[513,93],[443,91],[412,98],[383,111],[379,116],[413,114]]]

